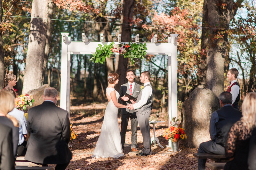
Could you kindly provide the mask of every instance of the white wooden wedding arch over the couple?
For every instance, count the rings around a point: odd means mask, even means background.
[[[83,41],[71,41],[68,37],[69,33],[62,32],[61,43],[61,85],[60,85],[60,108],[65,109],[69,113],[70,101],[70,55],[71,54],[93,54],[98,44],[105,45],[111,42],[104,42],[103,34],[100,34],[100,42],[89,42],[82,34]],[[168,37],[168,43],[157,43],[157,34],[151,39],[150,43],[146,43],[147,53],[153,55],[168,55],[168,113],[169,125],[172,117],[177,117],[177,37],[178,34],[171,34]],[[118,43],[121,42],[121,34],[118,35]],[[135,43],[139,42],[139,34],[135,37]],[[144,44],[144,43],[143,43]],[[115,53],[114,53],[115,54]],[[146,71],[146,70],[145,70]]]

